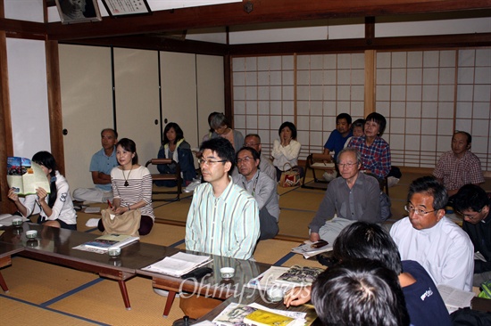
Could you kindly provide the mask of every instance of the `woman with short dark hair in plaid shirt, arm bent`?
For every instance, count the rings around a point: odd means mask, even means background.
[[[390,147],[380,136],[386,129],[386,118],[372,112],[365,119],[365,134],[353,137],[348,147],[354,147],[362,154],[362,170],[384,179],[390,172]]]

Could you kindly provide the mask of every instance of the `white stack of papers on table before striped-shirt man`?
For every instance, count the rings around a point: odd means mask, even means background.
[[[176,255],[165,257],[161,261],[148,265],[142,268],[142,270],[180,277],[211,261],[212,257],[210,256],[198,256],[178,252]]]

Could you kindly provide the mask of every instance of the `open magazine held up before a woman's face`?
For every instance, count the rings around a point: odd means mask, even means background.
[[[26,158],[7,158],[7,183],[19,195],[35,194],[37,188],[50,192],[42,167]]]

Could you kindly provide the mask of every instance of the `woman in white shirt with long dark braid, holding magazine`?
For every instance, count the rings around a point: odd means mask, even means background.
[[[77,213],[73,209],[69,185],[64,176],[56,170],[54,156],[49,151],[38,151],[31,160],[41,166],[45,172],[50,182],[49,192],[46,189],[37,188],[36,194],[27,195],[23,204],[12,189],[8,197],[24,217],[30,216],[34,205],[37,205],[41,209],[37,218],[38,224],[77,230]]]

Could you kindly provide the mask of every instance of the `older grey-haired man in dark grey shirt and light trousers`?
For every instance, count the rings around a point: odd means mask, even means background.
[[[355,148],[345,148],[337,155],[339,174],[331,181],[309,229],[310,240],[334,243],[346,225],[356,221],[381,223],[379,181],[360,173],[362,158]]]

